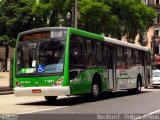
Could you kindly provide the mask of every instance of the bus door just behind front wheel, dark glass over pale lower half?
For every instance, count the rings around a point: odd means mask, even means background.
[[[114,46],[108,46],[108,89],[115,89]]]

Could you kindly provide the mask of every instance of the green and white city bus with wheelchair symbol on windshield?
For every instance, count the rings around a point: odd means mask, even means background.
[[[70,27],[45,27],[18,35],[13,63],[15,96],[129,90],[139,93],[151,77],[150,50]]]

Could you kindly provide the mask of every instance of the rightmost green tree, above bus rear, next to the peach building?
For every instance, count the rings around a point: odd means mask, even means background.
[[[140,0],[110,0],[105,4],[111,6],[112,13],[119,20],[111,30],[113,37],[121,39],[126,36],[133,41],[137,34],[142,36],[154,24],[155,10]]]

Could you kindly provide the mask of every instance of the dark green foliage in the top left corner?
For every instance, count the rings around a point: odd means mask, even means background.
[[[0,2],[0,42],[15,42],[19,32],[34,27],[31,10],[35,1],[2,0]]]

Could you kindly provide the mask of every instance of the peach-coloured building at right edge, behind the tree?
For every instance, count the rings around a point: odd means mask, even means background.
[[[157,18],[154,19],[154,26],[151,27],[147,34],[147,46],[154,53],[154,62],[156,68],[160,69],[160,0],[142,0],[147,6],[154,8],[157,12]]]

